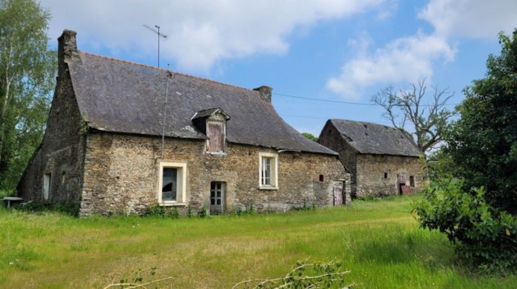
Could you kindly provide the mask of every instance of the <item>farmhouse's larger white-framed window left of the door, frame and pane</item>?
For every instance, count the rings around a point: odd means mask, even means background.
[[[181,205],[187,200],[187,164],[160,162],[158,202],[162,205]]]

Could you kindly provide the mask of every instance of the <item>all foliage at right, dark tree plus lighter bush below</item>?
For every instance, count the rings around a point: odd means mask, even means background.
[[[445,233],[474,266],[517,269],[517,30],[499,34],[485,78],[465,89],[461,118],[444,131],[420,224]]]

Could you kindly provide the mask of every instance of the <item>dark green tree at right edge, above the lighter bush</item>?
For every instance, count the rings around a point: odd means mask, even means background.
[[[485,78],[465,89],[461,118],[447,131],[454,175],[484,186],[489,204],[517,213],[517,30],[499,34],[499,56],[489,55]]]

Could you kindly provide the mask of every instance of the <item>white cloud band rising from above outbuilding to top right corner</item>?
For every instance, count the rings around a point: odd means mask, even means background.
[[[431,78],[437,62],[454,61],[458,39],[495,39],[500,30],[512,32],[516,11],[515,0],[430,0],[416,17],[428,21],[434,32],[395,39],[372,54],[362,50],[327,81],[327,89],[358,98],[365,87]]]

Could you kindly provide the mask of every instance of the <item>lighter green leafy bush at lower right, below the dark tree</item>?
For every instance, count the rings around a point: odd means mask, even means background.
[[[485,189],[465,192],[463,180],[443,178],[424,189],[416,204],[420,226],[447,235],[463,261],[478,270],[517,268],[517,217],[485,201]]]

